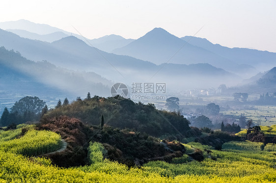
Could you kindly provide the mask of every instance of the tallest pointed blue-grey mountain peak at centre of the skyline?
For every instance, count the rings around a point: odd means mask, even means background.
[[[112,52],[133,56],[155,64],[166,62],[174,64],[209,63],[222,69],[238,65],[211,51],[193,46],[162,28],[154,28],[138,40],[127,46],[114,49]]]

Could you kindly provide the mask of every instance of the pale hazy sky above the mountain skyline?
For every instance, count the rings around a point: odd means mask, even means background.
[[[276,52],[276,0],[2,0],[0,22],[26,19],[87,38],[137,39],[154,27],[229,47]]]

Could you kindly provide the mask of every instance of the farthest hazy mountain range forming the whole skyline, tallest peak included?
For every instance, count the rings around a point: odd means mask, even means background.
[[[23,29],[24,27],[25,30],[39,34],[60,31],[66,35],[73,35],[89,46],[91,44],[100,50],[119,55],[129,55],[157,65],[166,62],[186,65],[209,63],[217,68],[238,74],[244,79],[274,67],[276,60],[276,53],[248,48],[228,48],[219,44],[214,45],[207,39],[193,36],[185,36],[180,39],[162,28],[154,28],[138,40],[124,39],[113,34],[89,40],[78,34],[27,20],[0,23],[0,28],[4,29]],[[21,35],[18,32],[17,34]],[[37,38],[33,37],[31,39]],[[50,39],[47,41],[59,40],[56,38],[56,40],[54,38]],[[46,41],[43,38],[37,40]],[[188,41],[189,43],[187,43]]]

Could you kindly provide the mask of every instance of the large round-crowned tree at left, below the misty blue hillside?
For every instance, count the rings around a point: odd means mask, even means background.
[[[21,98],[18,102],[15,102],[14,106],[11,108],[11,113],[15,113],[16,111],[23,115],[26,111],[31,111],[34,114],[41,113],[44,108],[46,102],[40,100],[37,96],[26,96]]]

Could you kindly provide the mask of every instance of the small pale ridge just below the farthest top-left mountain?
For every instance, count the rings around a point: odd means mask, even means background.
[[[65,34],[63,32],[53,32],[50,34],[40,35],[33,32],[28,32],[27,30],[20,30],[20,29],[6,29],[6,31],[17,34],[22,38],[46,41],[49,43],[52,43],[53,41],[60,40],[61,38],[69,36],[68,34]]]

